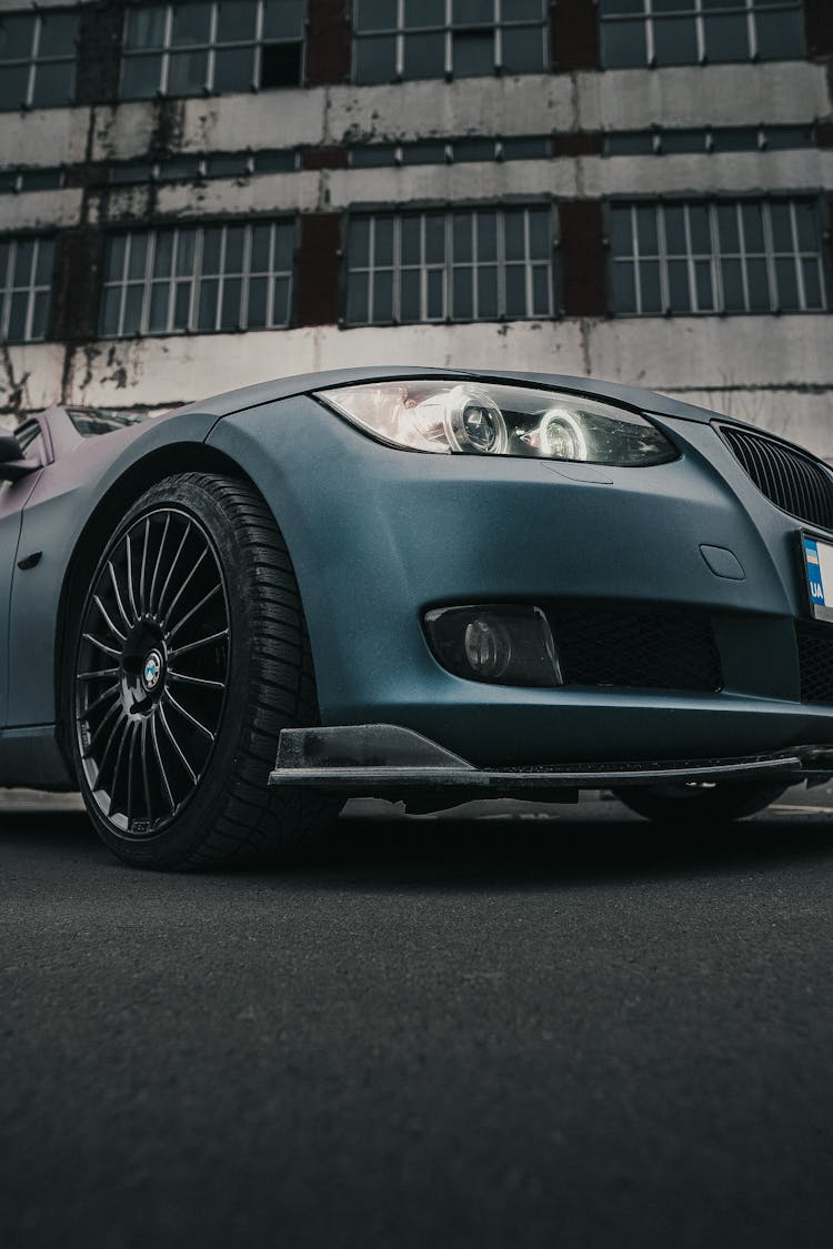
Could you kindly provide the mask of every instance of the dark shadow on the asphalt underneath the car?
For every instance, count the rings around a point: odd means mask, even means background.
[[[42,862],[70,856],[75,867],[121,867],[100,844],[77,809],[21,809],[0,818],[0,863],[11,854],[21,869],[29,856]],[[261,887],[305,889],[496,888],[632,884],[637,879],[714,878],[782,871],[833,859],[831,817],[777,809],[737,824],[681,828],[651,824],[617,803],[471,818],[458,816],[375,818],[351,814],[333,822],[315,851],[291,864],[225,868],[210,873]],[[189,879],[180,877],[181,881]],[[195,879],[190,877],[190,879]]]

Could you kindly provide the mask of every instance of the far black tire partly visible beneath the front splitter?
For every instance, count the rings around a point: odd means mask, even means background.
[[[772,781],[679,782],[614,789],[629,811],[668,824],[729,823],[754,816],[781,798],[787,786]]]

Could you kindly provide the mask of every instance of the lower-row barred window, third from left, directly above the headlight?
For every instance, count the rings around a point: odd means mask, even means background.
[[[548,207],[357,214],[347,241],[347,322],[551,317]]]

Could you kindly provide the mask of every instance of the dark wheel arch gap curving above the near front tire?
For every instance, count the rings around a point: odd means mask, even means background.
[[[76,608],[80,610],[89,585],[89,577],[92,575],[101,555],[100,535],[102,532],[112,532],[126,511],[145,491],[155,486],[156,482],[177,472],[219,472],[227,477],[236,477],[240,481],[245,481],[252,490],[257,490],[249,473],[225,452],[219,451],[216,447],[206,446],[204,442],[177,442],[156,447],[146,456],[142,456],[141,460],[131,463],[97,501],[79,535],[72,557],[65,570],[55,627],[56,734],[64,759],[70,768],[72,767],[72,752],[66,738],[66,713],[69,698],[67,647],[71,633],[67,626],[72,618],[72,612]],[[261,492],[257,491],[257,493],[260,495]]]

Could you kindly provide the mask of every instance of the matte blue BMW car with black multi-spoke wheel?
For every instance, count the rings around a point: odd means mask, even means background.
[[[691,822],[833,773],[833,475],[758,428],[380,368],[0,457],[0,781],[80,787],[129,863],[287,857],[351,796]]]

